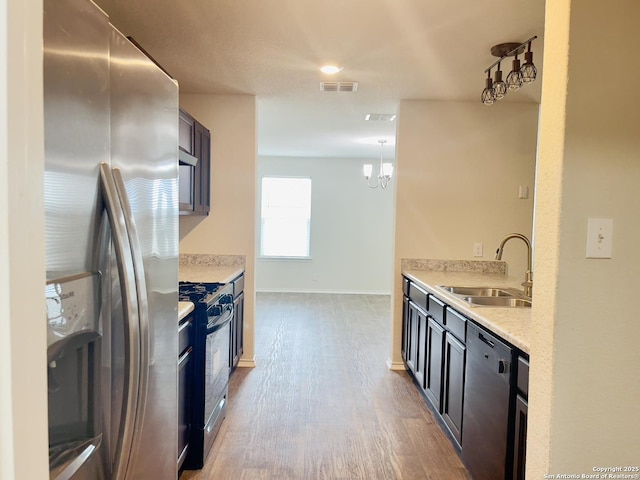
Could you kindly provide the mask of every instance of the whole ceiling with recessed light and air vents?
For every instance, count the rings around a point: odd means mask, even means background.
[[[401,99],[479,102],[498,43],[537,35],[542,74],[544,0],[96,1],[182,92],[256,95],[259,155],[375,158],[396,122],[367,113],[396,113]],[[322,74],[325,63],[343,70]],[[320,81],[359,85],[321,92]],[[540,86],[503,101],[539,102]]]

